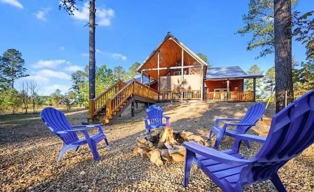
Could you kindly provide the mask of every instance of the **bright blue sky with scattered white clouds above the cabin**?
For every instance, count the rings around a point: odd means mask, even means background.
[[[196,3],[197,2],[197,3]],[[247,51],[250,36],[235,35],[243,26],[249,0],[96,0],[96,65],[126,71],[142,63],[170,31],[193,52],[207,55],[213,67],[257,64],[266,71],[274,55],[255,60],[260,50]],[[43,95],[71,87],[71,73],[88,64],[87,1],[69,16],[58,0],[0,0],[0,54],[22,52],[30,75]],[[312,11],[314,0],[300,0],[297,10]],[[292,55],[305,60],[305,48],[293,41]],[[22,79],[16,81],[18,84]]]

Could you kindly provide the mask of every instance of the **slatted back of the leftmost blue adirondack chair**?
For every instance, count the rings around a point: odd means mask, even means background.
[[[56,131],[72,130],[72,127],[65,118],[65,115],[52,107],[46,107],[45,109],[43,109],[40,113],[40,117],[44,121],[44,123],[50,128],[52,133]],[[78,140],[78,136],[76,133],[62,133],[57,135],[66,144]]]

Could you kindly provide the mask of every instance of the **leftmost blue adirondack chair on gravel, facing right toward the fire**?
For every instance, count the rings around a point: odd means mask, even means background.
[[[100,124],[71,126],[66,120],[65,115],[52,107],[47,107],[43,109],[40,113],[40,117],[49,127],[52,133],[59,136],[60,139],[63,141],[63,145],[61,147],[57,162],[61,160],[62,155],[65,153],[66,150],[68,150],[69,148],[74,148],[74,151],[76,152],[78,150],[78,147],[82,144],[89,145],[94,159],[97,161],[100,159],[97,152],[97,143],[105,140],[108,149],[110,149],[105,133],[103,132],[102,126]],[[83,129],[85,127],[97,127],[98,134],[89,136],[87,130]],[[82,132],[85,138],[78,139],[77,132]]]

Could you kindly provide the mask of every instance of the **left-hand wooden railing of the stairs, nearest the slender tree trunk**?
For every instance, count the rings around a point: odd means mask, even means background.
[[[127,83],[121,81],[120,79],[107,90],[102,92],[100,95],[95,97],[94,99],[89,99],[89,118],[92,118],[94,114],[101,111],[105,105],[107,99],[114,96],[117,92],[119,92]]]

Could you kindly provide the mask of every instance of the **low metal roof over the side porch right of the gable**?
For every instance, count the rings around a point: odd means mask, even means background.
[[[232,79],[254,77],[263,77],[263,75],[247,74],[239,66],[209,68],[206,72],[206,79]]]

